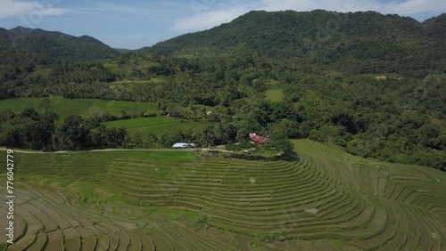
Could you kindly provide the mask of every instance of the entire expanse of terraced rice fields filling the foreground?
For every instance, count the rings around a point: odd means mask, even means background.
[[[446,174],[293,143],[299,162],[16,152],[9,250],[444,250]]]

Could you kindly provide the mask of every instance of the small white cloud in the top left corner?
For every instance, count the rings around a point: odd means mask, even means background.
[[[61,16],[68,12],[67,9],[54,8],[51,1],[40,4],[36,1],[0,0],[0,19],[27,14],[39,14],[43,16]]]

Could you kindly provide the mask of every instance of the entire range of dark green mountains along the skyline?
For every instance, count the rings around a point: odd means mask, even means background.
[[[258,53],[273,61],[351,74],[423,77],[446,68],[445,40],[446,14],[419,22],[377,12],[252,11],[219,27],[135,52],[186,58]],[[9,53],[27,55],[37,64],[96,61],[128,53],[91,36],[22,27],[0,28],[0,46],[3,63],[11,62]]]

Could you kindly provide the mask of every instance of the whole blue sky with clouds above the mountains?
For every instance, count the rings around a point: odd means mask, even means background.
[[[0,27],[94,36],[114,48],[138,49],[252,10],[315,9],[396,13],[423,21],[446,12],[446,0],[0,0]]]

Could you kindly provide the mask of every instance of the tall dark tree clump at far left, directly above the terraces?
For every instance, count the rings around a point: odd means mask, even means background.
[[[128,142],[126,128],[105,128],[95,117],[72,115],[56,125],[58,115],[50,109],[0,114],[0,145],[30,150],[87,150],[121,148]]]

